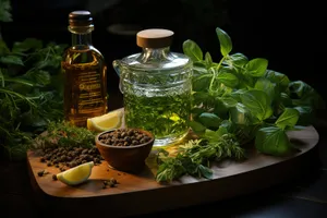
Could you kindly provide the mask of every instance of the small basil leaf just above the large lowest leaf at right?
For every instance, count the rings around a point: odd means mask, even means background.
[[[300,113],[296,109],[286,108],[275,124],[281,130],[284,130],[286,128],[292,129],[296,124],[299,116]]]

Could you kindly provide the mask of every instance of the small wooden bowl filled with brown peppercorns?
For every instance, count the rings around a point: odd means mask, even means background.
[[[96,146],[109,167],[138,172],[145,166],[155,141],[155,136],[140,129],[114,129],[96,136]]]

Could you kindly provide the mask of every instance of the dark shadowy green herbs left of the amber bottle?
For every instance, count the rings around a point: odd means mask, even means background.
[[[11,22],[10,1],[0,5],[0,21]],[[35,135],[62,119],[65,47],[35,38],[9,46],[0,33],[0,154],[7,152],[5,157],[24,158]]]

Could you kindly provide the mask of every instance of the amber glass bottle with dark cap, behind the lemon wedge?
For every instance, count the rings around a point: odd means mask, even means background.
[[[92,45],[93,17],[88,11],[69,14],[72,45],[62,59],[64,76],[64,117],[76,126],[86,126],[87,118],[108,111],[107,65]]]

